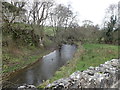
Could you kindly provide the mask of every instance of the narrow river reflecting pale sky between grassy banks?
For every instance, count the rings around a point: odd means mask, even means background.
[[[8,81],[9,86],[18,87],[24,84],[39,85],[43,80],[51,78],[61,66],[72,59],[75,51],[75,45],[63,45],[60,50],[55,50],[43,56],[42,60],[35,65],[11,76]]]

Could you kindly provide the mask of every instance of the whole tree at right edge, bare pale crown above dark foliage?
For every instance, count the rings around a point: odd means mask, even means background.
[[[111,4],[107,8],[106,16],[104,19],[104,30],[100,37],[100,42],[106,44],[119,44],[119,37],[118,37],[118,7],[116,4]]]

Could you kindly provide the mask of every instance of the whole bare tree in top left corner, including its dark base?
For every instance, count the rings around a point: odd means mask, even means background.
[[[2,2],[2,21],[3,21],[3,28],[2,32],[4,34],[14,33],[16,31],[13,29],[12,26],[14,22],[23,22],[24,18],[21,17],[21,12],[25,12],[24,6],[26,5],[25,2],[15,2],[11,0],[9,2]]]

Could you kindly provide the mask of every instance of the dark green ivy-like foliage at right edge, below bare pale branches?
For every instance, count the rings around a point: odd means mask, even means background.
[[[104,42],[106,44],[118,44],[119,45],[119,28],[115,27],[117,23],[116,16],[111,16],[110,22],[108,22],[107,27],[102,30],[101,40],[100,42]],[[103,40],[102,40],[103,39]]]

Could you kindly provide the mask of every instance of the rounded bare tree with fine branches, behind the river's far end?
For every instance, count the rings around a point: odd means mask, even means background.
[[[71,28],[79,27],[76,14],[71,10],[71,6],[62,4],[56,5],[49,14],[49,21],[53,27],[54,42],[59,46],[62,43],[72,42],[74,38],[74,30]]]

